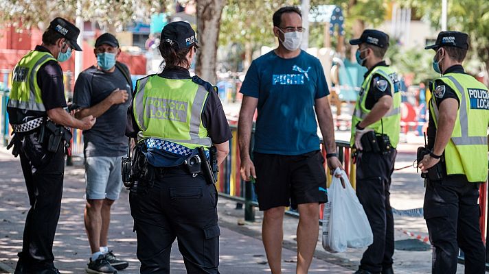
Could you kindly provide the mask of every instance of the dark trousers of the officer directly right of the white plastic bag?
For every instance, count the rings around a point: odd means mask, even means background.
[[[372,273],[392,267],[394,219],[389,188],[396,154],[396,149],[386,155],[360,152],[356,160],[356,196],[374,234],[374,242],[363,253],[359,269]]]

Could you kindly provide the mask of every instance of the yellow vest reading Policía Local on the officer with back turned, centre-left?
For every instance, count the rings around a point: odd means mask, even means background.
[[[150,75],[136,83],[133,112],[138,141],[157,138],[189,149],[209,148],[211,139],[202,124],[209,92],[192,79],[166,79]]]

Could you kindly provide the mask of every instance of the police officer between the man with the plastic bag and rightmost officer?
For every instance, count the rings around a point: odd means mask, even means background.
[[[394,273],[394,219],[389,201],[391,175],[400,132],[398,77],[383,61],[389,36],[365,29],[356,61],[367,67],[352,117],[351,145],[356,148],[356,195],[372,227],[374,242],[363,253],[356,273]]]

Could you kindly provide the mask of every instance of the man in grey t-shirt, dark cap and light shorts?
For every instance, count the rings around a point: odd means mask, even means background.
[[[122,189],[121,158],[127,151],[124,136],[132,83],[127,66],[117,62],[119,42],[112,34],[95,41],[97,66],[78,76],[73,103],[79,118],[97,122],[83,132],[87,206],[84,223],[91,248],[87,273],[116,273],[128,262],[117,260],[107,245],[111,206]]]

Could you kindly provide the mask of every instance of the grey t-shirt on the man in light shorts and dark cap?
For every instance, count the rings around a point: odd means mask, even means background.
[[[117,88],[126,90],[129,97],[125,103],[111,106],[97,118],[91,129],[83,131],[85,157],[117,157],[127,153],[128,141],[124,133],[133,88],[117,66],[113,73],[100,71],[95,66],[91,66],[78,75],[73,103],[80,108],[97,105]]]

